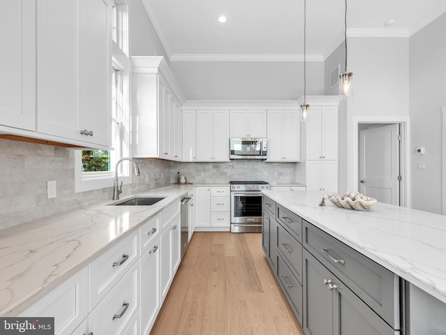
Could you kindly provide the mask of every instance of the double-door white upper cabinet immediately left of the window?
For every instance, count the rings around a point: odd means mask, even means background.
[[[39,133],[111,146],[111,47],[109,1],[37,2]]]

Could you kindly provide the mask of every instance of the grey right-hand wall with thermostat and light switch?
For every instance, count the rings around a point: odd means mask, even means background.
[[[410,37],[412,207],[442,212],[441,107],[446,106],[446,14]],[[426,154],[415,154],[425,147]],[[417,170],[424,162],[426,170]],[[444,201],[444,200],[443,200]]]

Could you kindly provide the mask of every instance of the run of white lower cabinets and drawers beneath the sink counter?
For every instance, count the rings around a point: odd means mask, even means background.
[[[18,316],[54,317],[54,335],[148,335],[180,265],[180,229],[178,201]]]

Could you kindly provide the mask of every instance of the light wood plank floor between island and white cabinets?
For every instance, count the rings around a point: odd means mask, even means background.
[[[151,335],[304,335],[261,234],[194,232]]]

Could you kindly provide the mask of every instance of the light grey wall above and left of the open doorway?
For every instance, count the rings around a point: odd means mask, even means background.
[[[409,38],[348,38],[347,70],[353,72],[353,96],[339,119],[346,124],[339,142],[346,143],[347,188],[356,189],[352,118],[408,117]]]

